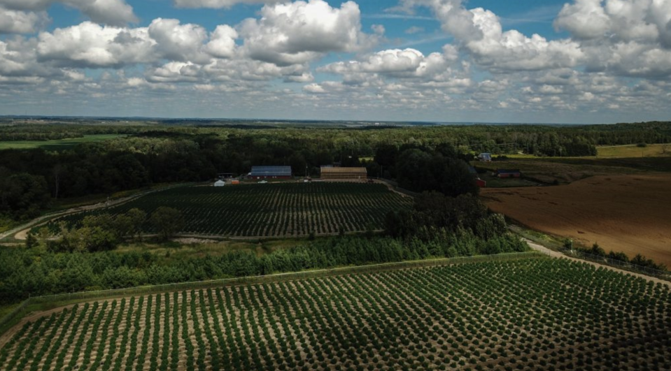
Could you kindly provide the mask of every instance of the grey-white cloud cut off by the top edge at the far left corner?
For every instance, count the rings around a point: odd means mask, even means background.
[[[97,23],[122,26],[139,21],[125,0],[0,0],[0,6],[10,10],[42,11],[53,3],[77,8]]]

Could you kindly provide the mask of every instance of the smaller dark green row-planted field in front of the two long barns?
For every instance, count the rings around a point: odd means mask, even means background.
[[[181,187],[143,196],[97,212],[118,214],[140,208],[148,214],[160,206],[180,210],[182,234],[223,236],[287,236],[365,231],[383,228],[390,210],[409,208],[411,198],[382,184],[285,183],[226,187]],[[86,214],[65,217],[77,224]],[[50,225],[57,230],[57,224]],[[149,223],[146,231],[153,232]]]

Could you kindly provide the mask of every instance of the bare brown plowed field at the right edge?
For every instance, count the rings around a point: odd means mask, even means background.
[[[671,174],[600,175],[558,187],[482,189],[495,212],[537,231],[671,268]]]

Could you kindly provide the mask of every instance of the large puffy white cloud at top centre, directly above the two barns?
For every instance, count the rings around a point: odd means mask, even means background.
[[[244,20],[239,34],[246,55],[284,66],[312,61],[327,52],[360,51],[376,41],[361,31],[361,13],[353,1],[340,8],[323,0],[264,6],[261,19]]]

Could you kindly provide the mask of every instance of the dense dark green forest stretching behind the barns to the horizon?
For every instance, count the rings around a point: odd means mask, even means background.
[[[166,182],[212,180],[246,174],[254,165],[290,165],[296,175],[317,175],[320,165],[366,166],[369,175],[398,180],[414,191],[460,194],[468,189],[461,160],[474,153],[525,152],[587,156],[595,145],[671,143],[671,124],[591,126],[394,126],[314,128],[268,126],[0,126],[0,140],[123,137],[83,143],[59,152],[3,150],[0,213],[35,217],[52,199],[112,194]],[[425,176],[425,175],[429,176]],[[448,175],[446,175],[448,174]],[[420,176],[421,175],[421,176]],[[462,177],[462,182],[454,179]],[[446,178],[450,179],[446,182]]]

